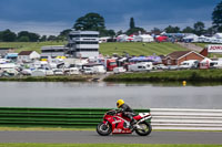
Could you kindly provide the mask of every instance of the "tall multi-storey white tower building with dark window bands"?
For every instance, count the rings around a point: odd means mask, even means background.
[[[74,57],[99,56],[99,32],[72,31],[68,36],[69,54]]]

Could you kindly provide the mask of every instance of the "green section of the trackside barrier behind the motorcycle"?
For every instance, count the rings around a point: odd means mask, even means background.
[[[94,127],[110,109],[0,107],[0,126]]]

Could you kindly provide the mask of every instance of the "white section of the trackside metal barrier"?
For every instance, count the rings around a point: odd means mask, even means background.
[[[151,108],[153,129],[222,130],[222,109]]]

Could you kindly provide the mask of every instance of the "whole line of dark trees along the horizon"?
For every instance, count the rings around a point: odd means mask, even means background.
[[[77,19],[72,29],[81,30],[81,31],[99,31],[100,36],[114,36],[122,33],[128,35],[135,33],[147,33],[143,28],[137,27],[134,22],[134,18],[130,19],[129,29],[123,32],[122,30],[117,33],[114,30],[108,30],[105,28],[104,18],[99,13],[87,13],[83,17]],[[60,32],[59,35],[39,35],[38,33],[21,31],[19,33],[14,33],[9,29],[4,31],[0,31],[0,41],[3,42],[41,42],[41,41],[64,41],[67,40],[68,34],[72,31],[71,29],[65,29]],[[214,8],[212,12],[212,27],[205,28],[205,24],[201,21],[198,21],[193,24],[193,27],[186,27],[181,30],[179,27],[169,25],[165,29],[161,30],[159,28],[153,28],[150,33],[160,34],[162,31],[167,33],[194,33],[196,35],[205,34],[212,35],[215,32],[222,32],[222,1]]]

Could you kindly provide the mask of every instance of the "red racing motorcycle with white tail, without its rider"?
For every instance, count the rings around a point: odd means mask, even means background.
[[[104,114],[103,122],[97,126],[97,133],[101,136],[108,136],[111,133],[132,134],[135,130],[138,135],[147,136],[152,132],[152,126],[145,120],[151,119],[151,117],[150,113],[140,113],[133,116],[137,124],[132,126],[128,117],[124,117],[121,112],[112,109]]]

